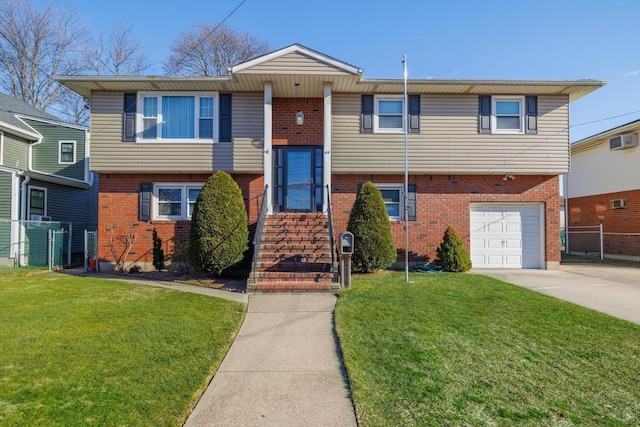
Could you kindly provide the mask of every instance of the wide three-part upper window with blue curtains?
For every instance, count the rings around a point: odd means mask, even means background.
[[[145,93],[138,106],[139,141],[210,142],[217,136],[215,94]]]

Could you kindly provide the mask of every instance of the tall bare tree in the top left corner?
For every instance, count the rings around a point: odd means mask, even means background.
[[[85,25],[70,11],[0,2],[0,88],[45,111],[64,93],[52,76],[83,69],[80,51],[87,37]]]

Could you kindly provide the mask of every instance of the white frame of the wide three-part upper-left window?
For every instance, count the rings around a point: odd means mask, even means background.
[[[194,111],[193,111],[193,126],[194,137],[193,138],[162,138],[162,97],[163,96],[192,96],[195,98]],[[144,99],[145,98],[157,98],[157,116],[156,126],[157,134],[156,138],[143,138],[144,131]],[[200,138],[200,98],[213,98],[213,138]],[[153,143],[217,143],[219,139],[218,123],[220,114],[220,97],[218,92],[138,92],[136,100],[136,142],[153,144]]]

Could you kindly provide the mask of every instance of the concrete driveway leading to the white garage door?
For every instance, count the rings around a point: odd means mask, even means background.
[[[562,264],[560,270],[475,269],[473,273],[640,324],[640,268]]]

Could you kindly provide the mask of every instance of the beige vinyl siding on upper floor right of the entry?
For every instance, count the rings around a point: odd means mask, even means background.
[[[411,173],[560,174],[569,168],[568,98],[538,98],[537,135],[478,134],[478,97],[422,95]],[[360,133],[360,96],[333,96],[333,172],[402,173],[404,136]]]

